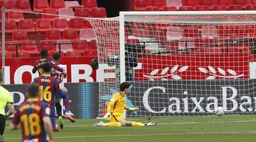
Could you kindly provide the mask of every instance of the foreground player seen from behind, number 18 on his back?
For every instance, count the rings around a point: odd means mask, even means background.
[[[22,141],[46,142],[53,141],[52,127],[50,122],[50,108],[46,102],[38,99],[39,86],[36,83],[28,85],[28,100],[21,103],[16,110],[11,130],[18,129],[21,122]]]

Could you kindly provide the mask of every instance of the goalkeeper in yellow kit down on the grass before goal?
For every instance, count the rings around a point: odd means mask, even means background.
[[[156,122],[142,124],[140,122],[126,121],[122,117],[124,110],[135,111],[138,107],[129,108],[125,105],[125,95],[129,93],[131,84],[128,82],[119,85],[119,92],[115,93],[107,106],[107,114],[104,118],[110,117],[109,123],[99,122],[95,126],[154,126]]]

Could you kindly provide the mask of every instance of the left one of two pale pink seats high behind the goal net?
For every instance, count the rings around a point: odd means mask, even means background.
[[[180,40],[183,38],[180,27],[169,27],[166,32],[166,40]]]

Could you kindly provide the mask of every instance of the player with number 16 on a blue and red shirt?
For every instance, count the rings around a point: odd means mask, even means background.
[[[65,117],[71,122],[75,122],[75,119],[70,116],[69,108],[70,102],[67,93],[60,89],[60,85],[57,79],[50,76],[51,74],[51,65],[49,63],[44,63],[41,65],[43,69],[43,75],[34,79],[35,83],[38,83],[40,86],[40,100],[46,101],[50,105],[50,119],[52,121],[53,128],[55,131],[58,131],[58,126],[55,125],[55,100],[54,97],[62,97],[63,105],[65,106]]]

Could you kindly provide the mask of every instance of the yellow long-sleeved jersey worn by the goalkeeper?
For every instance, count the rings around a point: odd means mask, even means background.
[[[125,96],[121,93],[115,93],[107,106],[107,112],[112,112],[112,114],[123,114],[124,110],[128,110],[129,107],[125,105]]]

